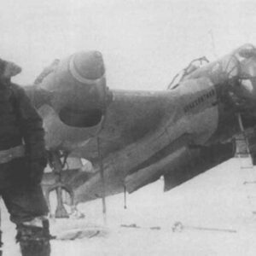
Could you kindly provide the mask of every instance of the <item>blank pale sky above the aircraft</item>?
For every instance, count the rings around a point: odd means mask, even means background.
[[[32,83],[54,58],[98,49],[110,88],[161,90],[195,57],[256,44],[254,0],[0,3],[0,55],[23,67],[20,84]]]

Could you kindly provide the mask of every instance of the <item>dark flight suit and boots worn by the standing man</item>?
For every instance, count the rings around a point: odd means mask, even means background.
[[[9,148],[22,144],[25,155],[20,150],[18,157],[6,159]],[[49,255],[48,207],[40,186],[46,163],[42,119],[20,86],[1,82],[0,195],[25,256]]]

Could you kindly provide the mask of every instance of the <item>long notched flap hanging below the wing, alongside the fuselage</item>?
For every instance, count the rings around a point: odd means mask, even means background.
[[[211,147],[183,145],[154,164],[125,177],[125,187],[131,193],[164,175],[164,189],[167,191],[230,159],[233,155],[233,143]]]

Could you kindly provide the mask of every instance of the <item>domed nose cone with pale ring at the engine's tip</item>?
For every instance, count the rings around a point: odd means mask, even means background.
[[[83,84],[95,84],[105,74],[102,54],[98,51],[79,52],[70,60],[74,79]]]

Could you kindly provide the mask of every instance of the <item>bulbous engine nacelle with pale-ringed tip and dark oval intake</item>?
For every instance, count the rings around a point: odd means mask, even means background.
[[[102,54],[98,51],[78,52],[55,60],[36,84],[50,93],[50,105],[61,121],[73,127],[98,125],[111,99]]]

